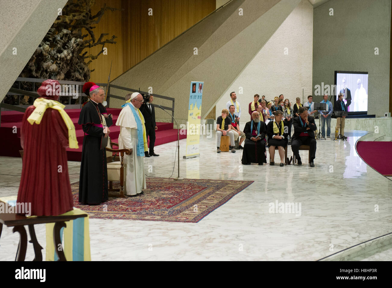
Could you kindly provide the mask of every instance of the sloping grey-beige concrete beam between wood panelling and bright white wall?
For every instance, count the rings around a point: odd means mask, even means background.
[[[174,97],[175,117],[186,121],[190,83],[204,81],[202,115],[207,115],[299,2],[233,0],[111,83],[143,91],[151,86],[153,93]],[[154,103],[171,106],[158,98]],[[121,104],[116,99],[110,103],[112,108]],[[158,113],[157,118],[168,118]]]

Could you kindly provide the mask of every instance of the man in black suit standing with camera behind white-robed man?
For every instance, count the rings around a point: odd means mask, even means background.
[[[152,100],[154,100],[154,96],[150,94],[150,97],[145,98],[143,105],[140,107],[140,111],[142,111],[145,121],[146,135],[147,137],[150,137],[150,153],[145,151],[145,157],[159,156],[158,154],[154,153],[155,130],[158,130],[158,127],[155,123],[155,109],[151,104]]]

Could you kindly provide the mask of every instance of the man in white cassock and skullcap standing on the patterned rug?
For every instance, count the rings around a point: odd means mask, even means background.
[[[144,118],[139,108],[143,103],[143,96],[138,93],[132,93],[123,109],[118,115],[116,122],[120,126],[120,135],[118,136],[118,145],[120,149],[132,149],[131,155],[124,155],[126,167],[125,192],[127,195],[137,195],[142,193],[146,188],[146,179],[144,174],[144,151],[148,151],[147,137],[144,125]]]

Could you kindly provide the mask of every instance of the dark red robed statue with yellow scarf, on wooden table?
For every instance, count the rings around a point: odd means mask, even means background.
[[[41,97],[26,109],[22,120],[24,155],[17,202],[31,202],[31,215],[36,216],[60,215],[73,210],[65,148],[77,148],[78,144],[64,105],[55,102],[58,100],[56,85],[60,83],[55,80],[42,82],[37,91]],[[42,115],[37,107],[44,110],[42,119],[32,120],[30,116]]]

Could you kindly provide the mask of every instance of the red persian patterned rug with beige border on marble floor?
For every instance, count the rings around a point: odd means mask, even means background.
[[[90,218],[198,222],[254,181],[147,178],[137,196],[109,197],[95,206],[79,204],[79,182],[71,184],[74,207]],[[113,182],[120,188],[120,182]]]

